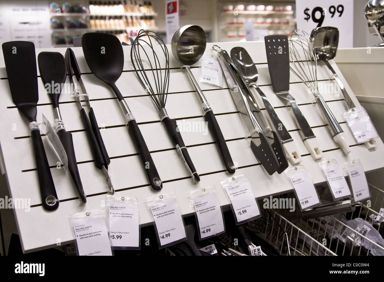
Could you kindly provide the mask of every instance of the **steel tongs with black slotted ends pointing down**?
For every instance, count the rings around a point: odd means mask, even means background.
[[[238,72],[227,51],[217,45],[218,59],[227,80],[233,101],[251,136],[251,149],[269,175],[283,172],[288,167],[283,145],[266,123],[257,102]]]

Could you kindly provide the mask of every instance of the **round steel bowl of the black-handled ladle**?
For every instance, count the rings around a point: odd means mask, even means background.
[[[180,27],[172,37],[173,56],[182,64],[192,65],[199,61],[205,51],[207,37],[198,25]]]

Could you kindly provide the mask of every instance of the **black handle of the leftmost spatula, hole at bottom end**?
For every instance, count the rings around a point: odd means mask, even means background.
[[[40,136],[40,130],[32,130],[31,137],[33,148],[35,148],[35,160],[43,208],[48,211],[53,211],[58,208],[59,200],[57,199],[55,184],[53,183],[51,170],[49,168],[47,156],[44,150],[43,140]],[[48,204],[48,202],[54,203]]]

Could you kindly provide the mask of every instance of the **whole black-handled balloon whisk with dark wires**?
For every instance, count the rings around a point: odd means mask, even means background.
[[[160,58],[155,51],[155,48],[158,48],[157,46],[160,46],[159,49],[161,49],[159,52],[161,53]],[[164,56],[165,62],[161,56]],[[169,52],[161,36],[154,31],[140,30],[132,43],[131,61],[137,78],[157,107],[161,117],[160,121],[165,125],[185,167],[187,167],[188,172],[195,181],[200,181],[199,174],[196,172],[185,147],[176,120],[169,118],[165,108],[169,89]],[[143,61],[149,64],[149,68],[144,67]],[[164,63],[165,68],[162,68],[161,64]],[[155,87],[152,87],[152,83]]]

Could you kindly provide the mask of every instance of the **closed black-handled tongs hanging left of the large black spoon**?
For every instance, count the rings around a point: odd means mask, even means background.
[[[88,142],[91,146],[94,158],[94,163],[96,167],[103,172],[107,181],[107,185],[109,187],[109,193],[114,194],[111,176],[109,176],[108,173],[108,165],[109,163],[111,163],[111,160],[109,159],[107,149],[105,148],[103,138],[101,137],[99,126],[96,121],[96,116],[91,105],[89,104],[89,97],[85,89],[83,80],[81,79],[81,71],[79,65],[77,64],[73,50],[71,48],[67,48],[67,51],[65,52],[65,62],[67,65],[70,82],[74,85],[73,94],[75,95],[76,104],[78,104],[79,106],[81,121],[83,122],[85,131],[87,133]],[[74,78],[76,78],[78,83],[74,81]],[[79,88],[77,87],[78,84]],[[80,94],[79,90],[82,94]],[[81,96],[84,97],[85,104],[88,107],[89,119],[85,112],[85,108],[83,107],[82,102],[84,101],[81,101]]]

